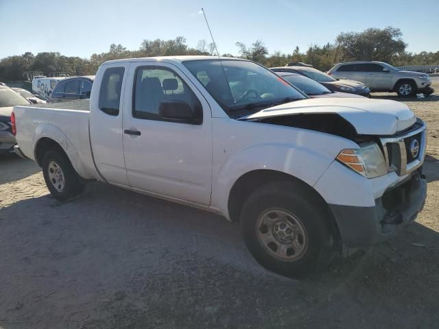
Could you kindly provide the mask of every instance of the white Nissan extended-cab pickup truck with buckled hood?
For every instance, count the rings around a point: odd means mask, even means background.
[[[425,123],[403,103],[308,99],[247,60],[105,62],[89,101],[15,106],[12,125],[56,199],[100,180],[210,210],[294,278],[394,236],[427,193]]]

